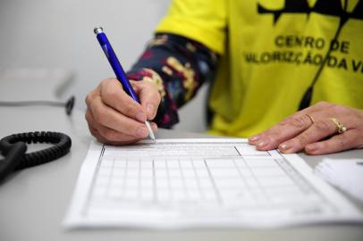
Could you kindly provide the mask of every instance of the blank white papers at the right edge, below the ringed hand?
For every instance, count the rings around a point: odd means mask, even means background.
[[[317,175],[363,202],[363,159],[323,159]]]

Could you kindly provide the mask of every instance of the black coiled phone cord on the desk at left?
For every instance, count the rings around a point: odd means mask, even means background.
[[[25,154],[27,144],[54,144],[44,150]],[[0,140],[0,152],[5,156],[0,160],[0,181],[13,170],[21,170],[51,162],[67,154],[72,146],[71,137],[59,132],[35,131],[13,134]]]

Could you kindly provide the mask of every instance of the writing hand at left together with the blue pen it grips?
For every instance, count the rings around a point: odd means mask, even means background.
[[[86,120],[97,140],[113,145],[125,145],[148,137],[155,139],[155,123],[160,95],[154,83],[129,81],[112,46],[101,28],[95,29],[97,39],[117,79],[104,79],[86,98]]]

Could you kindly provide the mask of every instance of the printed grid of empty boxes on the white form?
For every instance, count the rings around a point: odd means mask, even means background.
[[[92,198],[122,204],[286,206],[302,200],[320,201],[308,183],[281,155],[257,152],[249,145],[229,150],[190,149],[188,155],[103,156]],[[203,150],[204,149],[204,150]],[[218,158],[204,156],[220,152]],[[180,153],[179,153],[180,154]],[[127,155],[127,154],[126,154]],[[233,157],[231,158],[231,155]]]

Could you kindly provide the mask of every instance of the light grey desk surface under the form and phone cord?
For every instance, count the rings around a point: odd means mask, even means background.
[[[56,162],[21,170],[0,186],[0,239],[12,240],[363,240],[362,225],[324,224],[289,229],[202,229],[150,231],[97,229],[66,231],[61,226],[71,202],[80,165],[92,137],[83,112],[67,117],[62,108],[0,108],[0,137],[35,130],[60,131],[72,137],[72,151]],[[160,129],[157,137],[207,137]],[[323,156],[300,154],[310,166]],[[363,150],[331,154],[358,158]],[[362,205],[360,205],[360,208]]]

